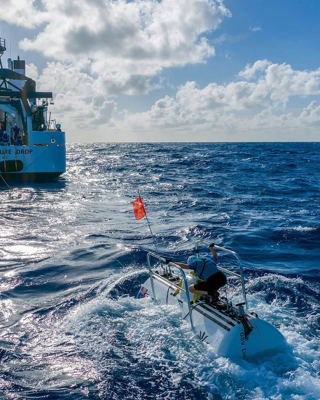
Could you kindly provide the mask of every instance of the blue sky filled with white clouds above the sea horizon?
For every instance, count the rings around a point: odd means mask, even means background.
[[[320,1],[0,0],[67,142],[318,141]]]

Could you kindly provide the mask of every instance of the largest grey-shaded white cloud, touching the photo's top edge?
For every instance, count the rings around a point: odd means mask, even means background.
[[[20,41],[62,64],[89,59],[104,94],[144,94],[163,68],[205,62],[214,47],[205,34],[231,16],[221,0],[10,0],[1,18],[39,26]],[[58,64],[57,64],[58,66]]]

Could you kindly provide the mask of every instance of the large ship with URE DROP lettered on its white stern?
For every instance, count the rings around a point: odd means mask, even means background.
[[[26,62],[1,57],[0,38],[0,182],[51,181],[66,171],[66,134],[51,117],[52,92],[37,92],[26,76]]]

